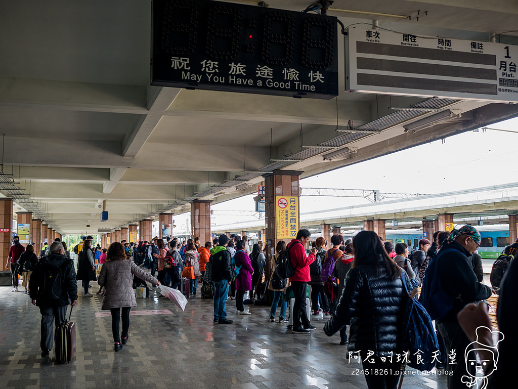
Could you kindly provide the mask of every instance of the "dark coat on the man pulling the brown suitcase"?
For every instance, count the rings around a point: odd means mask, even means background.
[[[61,297],[49,299],[42,296],[45,287],[45,269],[58,268],[63,277]],[[50,254],[36,263],[33,267],[31,279],[29,280],[29,296],[36,300],[38,307],[64,306],[70,304],[71,300],[77,300],[77,281],[74,262],[65,255]]]

